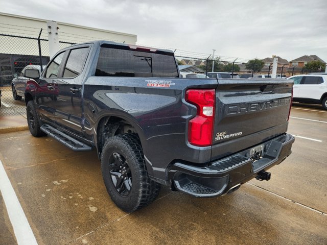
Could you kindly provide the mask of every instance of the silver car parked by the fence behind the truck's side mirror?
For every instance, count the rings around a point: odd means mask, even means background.
[[[45,65],[43,65],[43,69],[44,68]],[[11,81],[12,96],[14,97],[14,100],[21,100],[21,98],[24,97],[26,83],[29,80],[29,78],[25,77],[26,70],[38,70],[39,74],[41,74],[40,65],[27,65],[21,70],[19,76],[14,74],[14,79]]]

